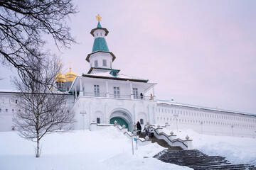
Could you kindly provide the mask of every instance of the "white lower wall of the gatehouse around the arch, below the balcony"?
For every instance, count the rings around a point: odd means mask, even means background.
[[[89,96],[78,96],[75,101],[74,110],[76,113],[75,129],[90,128],[92,121],[100,118],[101,123],[110,123],[112,117],[119,117],[127,120],[129,128],[141,118],[146,122],[154,122],[154,107],[156,101],[134,100],[130,98],[100,98]],[[85,113],[84,117],[82,113]],[[85,120],[83,120],[85,119]]]

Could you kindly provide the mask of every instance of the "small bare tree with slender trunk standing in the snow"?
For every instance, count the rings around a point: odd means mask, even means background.
[[[15,127],[21,137],[37,142],[36,157],[40,157],[40,140],[51,132],[70,130],[73,126],[74,113],[68,107],[68,94],[53,91],[58,64],[53,60],[35,60],[31,57],[33,79],[27,74],[20,74],[21,80],[15,79],[19,94],[14,114]]]

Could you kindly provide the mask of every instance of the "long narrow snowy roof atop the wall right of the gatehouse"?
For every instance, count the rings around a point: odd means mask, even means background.
[[[229,111],[229,110],[225,110],[225,109],[221,109],[221,108],[209,108],[209,107],[205,107],[205,106],[196,106],[196,105],[191,105],[191,104],[177,103],[176,101],[169,101],[169,100],[157,100],[156,103],[158,105],[181,106],[181,107],[188,107],[188,108],[198,108],[198,109],[203,109],[203,110],[208,110],[208,111],[220,111],[220,112],[226,112],[226,113],[228,112],[228,113],[256,116],[255,114],[252,114],[252,113]]]

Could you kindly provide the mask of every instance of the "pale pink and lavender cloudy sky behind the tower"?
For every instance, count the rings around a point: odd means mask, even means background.
[[[121,74],[157,83],[157,99],[256,114],[256,1],[78,1],[68,24],[78,41],[48,47],[78,75],[87,73],[95,16]],[[6,67],[0,89],[13,88]]]

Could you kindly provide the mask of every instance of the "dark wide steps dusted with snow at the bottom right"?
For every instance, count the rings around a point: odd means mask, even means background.
[[[254,165],[250,164],[231,164],[224,157],[208,156],[202,152],[193,150],[168,150],[164,154],[156,155],[157,159],[162,162],[177,164],[181,166],[188,166],[195,170],[206,169],[248,169],[256,170]]]

